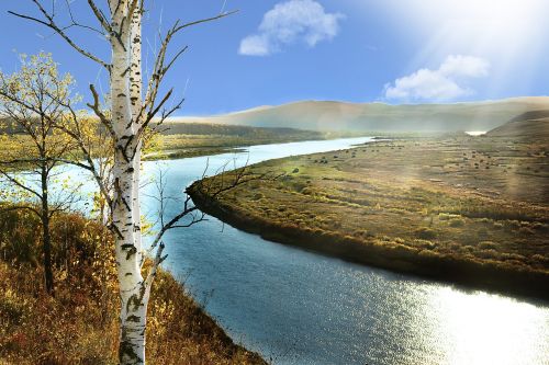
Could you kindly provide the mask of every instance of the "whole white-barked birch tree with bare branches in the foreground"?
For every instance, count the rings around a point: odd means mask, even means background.
[[[226,16],[220,13],[216,16],[190,23],[176,22],[161,36],[160,47],[156,55],[150,78],[143,80],[142,67],[142,16],[144,14],[143,0],[109,0],[100,4],[88,0],[89,10],[98,22],[97,27],[79,24],[70,9],[69,24],[59,24],[56,16],[58,8],[55,1],[30,0],[38,15],[12,14],[43,24],[60,35],[76,52],[83,57],[99,64],[109,75],[110,113],[101,110],[100,95],[96,88],[90,85],[93,101],[89,107],[94,112],[102,126],[112,138],[112,186],[104,186],[93,161],[87,163],[87,169],[93,174],[100,186],[102,196],[109,206],[108,227],[115,238],[115,253],[117,278],[121,297],[121,331],[119,358],[121,364],[145,363],[145,328],[147,305],[150,287],[158,265],[165,255],[161,235],[167,230],[178,227],[178,221],[191,216],[191,225],[201,220],[192,216],[197,208],[184,201],[180,214],[167,220],[159,235],[154,239],[153,264],[146,273],[142,273],[145,262],[145,252],[142,243],[142,221],[139,204],[141,181],[141,153],[147,129],[154,121],[155,125],[171,115],[181,102],[176,102],[172,107],[166,107],[172,91],[160,94],[160,85],[173,62],[184,53],[187,47],[171,53],[168,47],[173,37],[189,26]],[[47,4],[46,4],[47,3]],[[70,2],[67,2],[70,7]],[[68,33],[71,28],[86,28],[101,33],[107,39],[111,59],[101,59],[96,53],[87,49]],[[146,84],[146,87],[144,85]],[[82,137],[77,129],[72,129],[72,137],[81,147]],[[85,150],[85,149],[82,149]],[[90,159],[87,159],[88,161]]]

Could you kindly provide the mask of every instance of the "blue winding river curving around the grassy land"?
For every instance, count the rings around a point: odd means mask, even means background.
[[[232,168],[369,140],[254,146],[146,162],[145,171],[160,167],[167,193],[180,196],[206,163],[212,174],[227,161]],[[154,214],[154,201],[145,205]],[[548,303],[357,265],[208,219],[166,236],[166,266],[236,342],[273,364],[549,364]]]

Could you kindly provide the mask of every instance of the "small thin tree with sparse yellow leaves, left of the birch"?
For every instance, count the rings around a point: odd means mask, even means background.
[[[9,209],[31,210],[42,223],[45,288],[51,295],[55,285],[49,223],[77,197],[75,186],[65,185],[63,194],[51,189],[59,179],[56,168],[74,148],[74,141],[56,128],[64,123],[64,104],[76,102],[72,83],[45,53],[22,56],[21,69],[12,75],[0,71],[0,116],[3,128],[10,129],[0,137],[2,197],[13,202]]]

